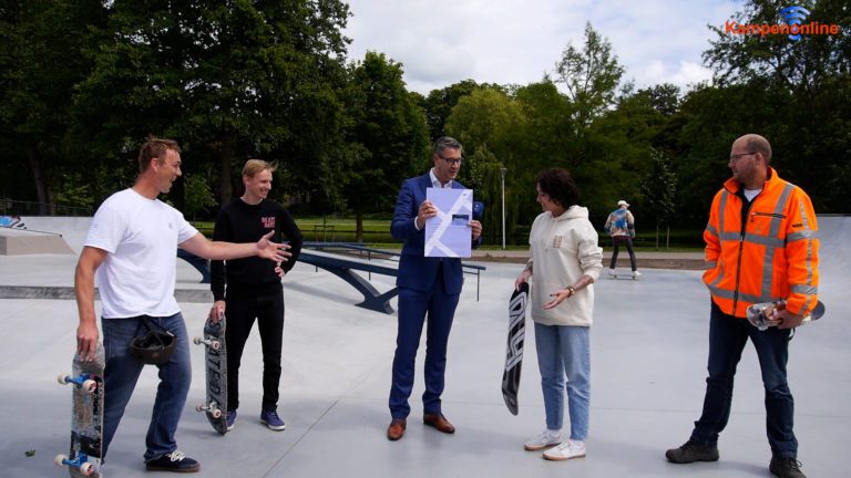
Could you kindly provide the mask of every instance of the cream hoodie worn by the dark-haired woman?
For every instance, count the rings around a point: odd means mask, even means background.
[[[577,290],[555,309],[543,309],[552,300],[551,293],[572,285],[583,274],[594,281],[599,278],[603,249],[588,220],[588,209],[573,206],[558,217],[542,212],[532,224],[529,246],[532,320],[544,325],[591,325],[594,285]]]

